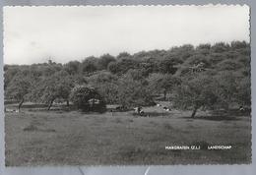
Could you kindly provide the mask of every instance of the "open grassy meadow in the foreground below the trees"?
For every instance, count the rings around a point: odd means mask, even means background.
[[[251,162],[251,118],[145,109],[104,114],[7,112],[6,165],[241,164]],[[155,115],[153,115],[155,114]],[[204,114],[204,117],[200,117]],[[230,145],[228,150],[167,150],[165,146]]]

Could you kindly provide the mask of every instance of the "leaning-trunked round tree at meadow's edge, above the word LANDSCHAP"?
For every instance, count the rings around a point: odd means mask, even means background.
[[[191,118],[194,118],[200,107],[211,108],[218,102],[215,89],[215,82],[209,76],[199,74],[196,77],[184,79],[180,86],[176,87],[173,97],[174,105],[183,109],[192,108]]]

